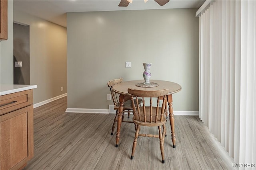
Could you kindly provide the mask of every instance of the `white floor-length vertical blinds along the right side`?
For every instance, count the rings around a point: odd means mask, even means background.
[[[212,1],[199,15],[199,117],[235,163],[256,164],[256,2]]]

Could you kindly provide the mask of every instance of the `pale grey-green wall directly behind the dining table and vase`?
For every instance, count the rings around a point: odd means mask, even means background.
[[[198,111],[199,18],[196,8],[67,14],[68,108],[108,109],[107,82],[143,79],[182,86],[174,110]],[[125,68],[131,61],[132,68]]]

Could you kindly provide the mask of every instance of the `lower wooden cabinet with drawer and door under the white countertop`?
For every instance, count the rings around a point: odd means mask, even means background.
[[[34,155],[33,90],[6,94],[0,100],[0,169],[21,169]]]

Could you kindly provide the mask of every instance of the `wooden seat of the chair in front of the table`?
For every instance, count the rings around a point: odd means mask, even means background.
[[[160,126],[164,125],[166,123],[166,118],[163,116],[162,121],[160,121],[161,116],[158,116],[157,121],[155,122],[155,117],[152,116],[152,122],[150,123],[150,107],[145,107],[146,108],[146,122],[144,121],[144,116],[141,115],[141,121],[136,120],[135,117],[132,118],[132,121],[137,124],[137,125],[142,125],[142,126]],[[159,110],[161,110],[161,107],[159,107]],[[143,113],[143,107],[140,107],[140,113]],[[156,107],[152,107],[152,113],[156,113]]]

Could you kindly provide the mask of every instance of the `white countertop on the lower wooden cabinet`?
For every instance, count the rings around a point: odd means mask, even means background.
[[[37,85],[1,84],[0,96],[37,88]]]

